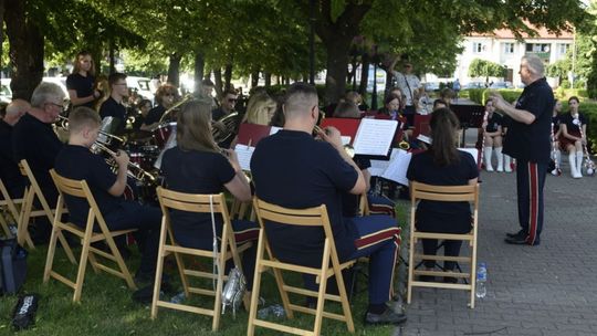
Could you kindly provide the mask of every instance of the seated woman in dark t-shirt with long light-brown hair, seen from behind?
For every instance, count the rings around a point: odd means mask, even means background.
[[[237,154],[220,148],[211,136],[211,101],[208,97],[182,105],[178,113],[177,146],[166,150],[161,170],[168,189],[187,193],[220,193],[230,191],[241,201],[251,200],[251,188],[242,171]],[[213,230],[209,213],[189,213],[172,210],[174,235],[186,248],[211,250]],[[216,234],[222,234],[222,218],[216,216]],[[256,240],[259,227],[251,221],[233,220],[237,244]],[[244,251],[242,267],[248,288],[252,288],[256,242]],[[231,266],[231,263],[229,264]]]

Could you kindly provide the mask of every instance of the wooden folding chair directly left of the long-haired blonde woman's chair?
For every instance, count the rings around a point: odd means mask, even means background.
[[[97,273],[98,271],[104,271],[106,273],[122,277],[126,281],[126,284],[129,288],[136,290],[137,287],[135,285],[135,282],[133,281],[133,276],[130,276],[130,272],[128,271],[128,267],[126,266],[123,256],[121,255],[121,252],[118,251],[118,248],[114,242],[115,237],[124,235],[135,230],[119,230],[111,232],[107,228],[104,217],[102,216],[102,212],[100,211],[100,207],[95,202],[95,198],[93,197],[93,193],[91,192],[90,187],[87,186],[87,182],[85,180],[72,180],[64,178],[57,175],[54,169],[50,170],[50,175],[52,176],[52,179],[54,180],[54,183],[56,185],[56,188],[59,190],[59,199],[56,206],[57,211],[54,217],[54,224],[52,225],[50,245],[48,248],[45,270],[43,272],[43,282],[46,283],[50,277],[54,277],[63,284],[72,287],[74,290],[73,302],[80,302],[81,292],[83,291],[83,282],[85,281],[85,270],[87,266],[87,261],[90,261],[95,273]],[[65,195],[87,200],[90,211],[87,214],[87,222],[85,223],[85,228],[81,228],[71,222],[62,221],[62,209],[64,207]],[[101,232],[93,231],[95,224],[97,224]],[[75,282],[72,282],[67,277],[52,270],[54,262],[54,253],[56,251],[56,241],[61,237],[61,244],[66,251],[69,260],[71,261],[71,263],[76,264],[76,260],[72,254],[69,242],[64,239],[62,234],[63,230],[78,237],[81,239],[81,244],[83,245],[78,260],[78,270],[76,273]],[[101,241],[106,242],[109,251],[102,251],[92,246],[92,243]],[[100,263],[96,256],[102,256],[113,261],[114,263],[116,263],[117,269]]]

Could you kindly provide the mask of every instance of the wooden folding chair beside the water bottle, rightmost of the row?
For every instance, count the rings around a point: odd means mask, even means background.
[[[411,207],[410,207],[410,255],[409,255],[409,270],[408,270],[408,291],[407,303],[410,303],[412,298],[412,287],[437,287],[437,288],[452,288],[470,291],[469,306],[474,308],[475,296],[475,274],[476,274],[476,230],[479,219],[479,185],[474,186],[430,186],[420,182],[412,182],[410,186],[411,192]],[[473,203],[473,220],[472,229],[468,233],[453,234],[453,233],[432,233],[420,232],[415,228],[416,210],[419,200],[431,201],[444,201],[444,202],[462,202],[468,201]],[[449,224],[449,223],[447,223]],[[444,256],[444,255],[426,255],[418,254],[416,252],[416,242],[419,239],[437,239],[437,240],[462,240],[468,241],[471,248],[471,254],[469,256]],[[440,272],[440,271],[423,271],[415,270],[416,262],[421,260],[432,261],[453,261],[457,263],[470,263],[469,272]],[[430,276],[452,276],[457,279],[465,279],[468,283],[439,283],[439,282],[422,282],[415,280],[418,275]]]

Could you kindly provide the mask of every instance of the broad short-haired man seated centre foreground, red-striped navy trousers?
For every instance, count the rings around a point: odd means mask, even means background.
[[[404,314],[386,306],[392,297],[392,274],[399,232],[394,221],[354,222],[343,218],[342,192],[366,190],[360,169],[345,153],[339,132],[328,127],[323,141],[312,137],[320,109],[315,87],[294,83],[283,104],[284,129],[259,141],[251,172],[259,198],[292,209],[325,204],[341,262],[369,256],[369,305],[366,323],[400,324]],[[324,232],[321,228],[265,223],[271,248],[283,262],[321,266]],[[305,286],[315,290],[305,276]]]

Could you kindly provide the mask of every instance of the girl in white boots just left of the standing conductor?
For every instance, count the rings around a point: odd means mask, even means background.
[[[483,158],[485,160],[485,170],[493,171],[491,165],[491,156],[495,150],[495,157],[498,158],[498,171],[504,171],[504,159],[502,156],[502,116],[495,113],[493,102],[488,99],[485,102],[485,114],[488,116],[486,124],[483,125]]]

